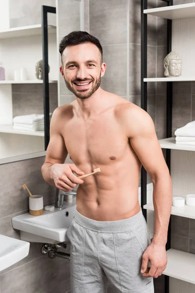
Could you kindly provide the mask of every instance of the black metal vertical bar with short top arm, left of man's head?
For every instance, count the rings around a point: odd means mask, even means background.
[[[48,68],[48,27],[47,13],[56,13],[56,7],[41,6],[42,20],[42,58],[43,58],[43,106],[44,106],[44,140],[45,150],[49,144],[49,68]]]

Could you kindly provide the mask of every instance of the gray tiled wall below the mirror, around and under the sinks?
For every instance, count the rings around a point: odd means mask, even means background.
[[[54,203],[56,189],[43,180],[40,170],[44,160],[45,157],[39,157],[0,165],[0,234],[20,239],[11,219],[28,211],[28,193],[22,184],[33,194],[43,195],[44,205]],[[41,246],[41,243],[31,243],[26,258],[0,272],[0,293],[70,291],[69,260],[49,259],[40,253]]]

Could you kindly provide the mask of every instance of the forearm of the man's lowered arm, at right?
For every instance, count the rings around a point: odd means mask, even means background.
[[[152,242],[166,245],[169,219],[172,209],[172,181],[168,175],[153,181],[155,231]]]

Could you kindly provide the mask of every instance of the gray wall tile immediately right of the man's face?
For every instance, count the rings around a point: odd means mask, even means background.
[[[101,79],[101,87],[111,93],[126,96],[127,90],[127,46],[109,45],[103,47],[104,62],[107,65]]]

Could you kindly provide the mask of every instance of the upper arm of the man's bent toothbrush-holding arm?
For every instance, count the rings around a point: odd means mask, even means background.
[[[52,115],[51,123],[50,123],[50,140],[47,146],[45,163],[51,164],[63,164],[68,151],[66,149],[66,145],[64,142],[64,138],[60,133],[60,113],[59,110],[56,109]]]

